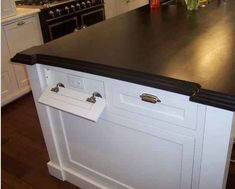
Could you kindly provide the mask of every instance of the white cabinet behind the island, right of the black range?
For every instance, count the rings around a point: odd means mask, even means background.
[[[105,0],[106,18],[112,18],[148,3],[149,0]]]

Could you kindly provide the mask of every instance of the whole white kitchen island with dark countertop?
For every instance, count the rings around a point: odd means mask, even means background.
[[[145,6],[18,53],[50,174],[84,189],[225,188],[234,9]]]

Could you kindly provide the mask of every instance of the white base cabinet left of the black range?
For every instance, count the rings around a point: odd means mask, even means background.
[[[37,15],[2,24],[2,105],[30,91],[26,68],[10,61],[17,52],[42,44]]]

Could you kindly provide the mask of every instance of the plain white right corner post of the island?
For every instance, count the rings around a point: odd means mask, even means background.
[[[207,107],[200,189],[226,188],[234,125],[233,112]]]

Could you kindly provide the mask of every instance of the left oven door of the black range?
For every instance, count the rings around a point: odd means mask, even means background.
[[[48,24],[49,30],[49,41],[57,39],[66,34],[72,33],[78,28],[78,18],[77,16],[66,18],[62,21],[54,21],[51,24]]]

